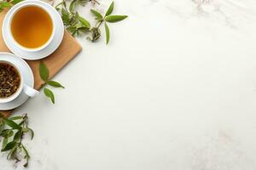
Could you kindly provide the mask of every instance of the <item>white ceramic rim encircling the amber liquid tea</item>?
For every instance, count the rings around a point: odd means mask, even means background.
[[[13,20],[15,14],[16,14],[21,8],[25,8],[25,7],[27,7],[27,6],[36,6],[36,7],[38,7],[38,8],[42,8],[47,14],[49,14],[49,18],[50,18],[50,20],[51,20],[51,22],[52,22],[53,30],[52,30],[52,32],[51,32],[51,35],[50,35],[50,37],[49,37],[49,40],[48,40],[47,42],[45,42],[42,46],[38,47],[38,48],[26,48],[26,47],[22,46],[19,42],[17,42],[17,41],[15,40],[15,37],[13,37],[12,31],[11,31],[11,24],[12,24],[12,20]],[[46,7],[44,7],[43,5],[38,4],[38,3],[22,3],[18,8],[15,8],[15,10],[12,11],[12,14],[10,14],[10,16],[9,16],[9,32],[10,32],[10,35],[11,35],[12,40],[15,42],[15,45],[18,46],[19,48],[23,49],[24,51],[32,51],[32,52],[34,52],[34,51],[40,51],[40,50],[42,50],[43,48],[46,48],[47,46],[49,46],[49,43],[52,42],[53,37],[54,37],[54,35],[55,35],[55,22],[54,22],[54,20],[53,20],[52,14],[50,14],[50,12],[49,12],[49,9],[46,8]]]

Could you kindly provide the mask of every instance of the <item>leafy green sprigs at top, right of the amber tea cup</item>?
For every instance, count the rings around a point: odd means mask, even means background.
[[[90,34],[90,37],[87,37],[87,39],[91,42],[96,42],[102,36],[100,26],[102,26],[102,23],[104,23],[106,43],[108,44],[110,39],[110,31],[107,23],[119,22],[121,20],[125,20],[128,16],[111,15],[113,13],[114,3],[110,4],[105,14],[101,14],[99,11],[92,8],[90,9],[90,12],[95,16],[96,25],[91,27],[90,22],[81,17],[75,10],[77,5],[84,5],[88,2],[92,2],[92,0],[83,0],[82,3],[81,0],[72,0],[68,6],[67,0],[62,0],[62,2],[56,5],[55,8],[61,14],[61,18],[64,25],[67,27],[67,31],[69,31],[73,36],[79,35],[80,32],[87,32]]]

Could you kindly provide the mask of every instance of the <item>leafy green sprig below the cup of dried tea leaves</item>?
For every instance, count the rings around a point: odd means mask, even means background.
[[[33,139],[34,132],[28,127],[28,116],[13,116],[6,118],[0,112],[0,139],[2,139],[2,152],[9,152],[7,159],[20,161],[25,159],[24,167],[28,166],[30,155],[26,150],[22,139],[24,134],[31,133]]]

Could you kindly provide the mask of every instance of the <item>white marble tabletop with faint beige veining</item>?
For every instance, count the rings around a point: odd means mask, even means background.
[[[36,133],[28,169],[255,170],[256,1],[202,1],[115,0],[129,19],[109,45],[79,37],[56,104],[16,111]]]

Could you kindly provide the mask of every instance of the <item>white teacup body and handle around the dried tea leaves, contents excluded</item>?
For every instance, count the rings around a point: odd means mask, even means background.
[[[15,94],[12,94],[11,96],[9,96],[7,98],[0,98],[0,103],[11,102],[14,99],[16,99],[18,96],[20,96],[20,94],[22,94],[22,93],[26,94],[29,97],[34,97],[35,95],[37,95],[39,93],[34,88],[26,85],[26,83],[24,82],[24,77],[23,77],[19,67],[16,66],[15,63],[13,63],[11,60],[3,60],[3,59],[0,59],[0,63],[12,65],[13,67],[15,67],[15,70],[19,73],[19,76],[20,76],[20,86],[19,86],[18,90],[15,92]]]

